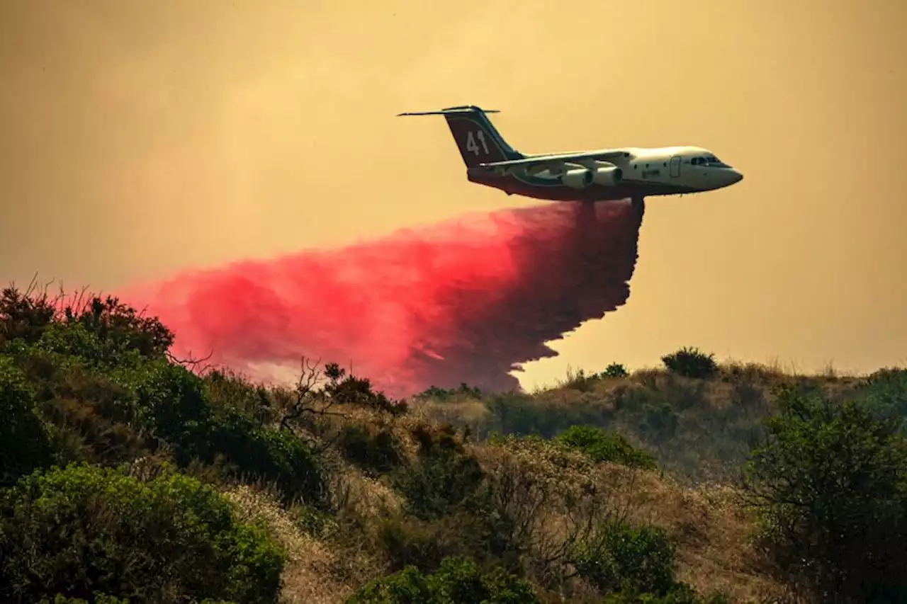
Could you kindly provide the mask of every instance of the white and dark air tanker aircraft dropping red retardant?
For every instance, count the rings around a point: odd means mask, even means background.
[[[466,164],[466,178],[508,195],[556,201],[642,200],[722,189],[743,179],[701,147],[526,155],[507,144],[485,115],[497,112],[462,105],[398,116],[444,115]]]

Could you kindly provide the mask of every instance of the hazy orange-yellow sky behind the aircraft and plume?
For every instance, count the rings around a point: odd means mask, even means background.
[[[727,190],[649,199],[626,306],[527,365],[679,346],[907,363],[907,3],[0,0],[0,280],[110,290],[532,205],[444,122],[524,152],[694,144]]]

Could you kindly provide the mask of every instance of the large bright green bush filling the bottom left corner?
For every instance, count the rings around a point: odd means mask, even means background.
[[[218,492],[166,473],[140,482],[71,465],[0,493],[0,598],[100,591],[134,602],[275,602],[283,553]]]

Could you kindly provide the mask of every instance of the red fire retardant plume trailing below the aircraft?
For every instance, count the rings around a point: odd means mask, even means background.
[[[352,366],[388,395],[518,389],[512,371],[557,355],[546,342],[627,301],[643,210],[625,200],[472,214],[120,296],[173,330],[175,356],[210,355],[253,379],[305,356]]]

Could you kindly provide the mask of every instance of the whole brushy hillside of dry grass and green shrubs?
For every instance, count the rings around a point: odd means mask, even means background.
[[[4,601],[904,601],[907,370],[684,349],[393,401],[171,344],[115,299],[3,292]]]

